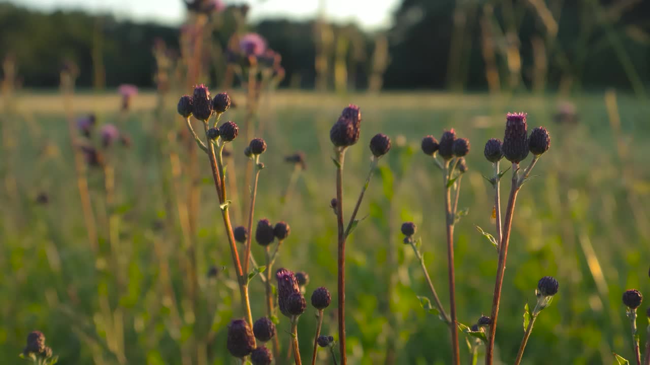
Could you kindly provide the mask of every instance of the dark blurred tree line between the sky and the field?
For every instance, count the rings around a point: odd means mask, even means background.
[[[642,0],[403,0],[382,32],[319,19],[251,30],[283,56],[285,87],[643,92],[649,14]],[[228,10],[218,16],[213,42],[225,49],[235,26]],[[27,87],[57,86],[66,60],[79,67],[80,86],[153,87],[156,39],[178,49],[179,29],[0,3],[0,57],[16,59]]]

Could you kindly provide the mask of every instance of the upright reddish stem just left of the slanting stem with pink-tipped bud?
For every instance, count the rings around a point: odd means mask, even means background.
[[[445,161],[443,169],[443,184],[445,187],[445,225],[447,226],[447,268],[449,279],[449,304],[450,321],[448,322],[451,332],[452,360],[453,364],[460,365],[460,347],[458,346],[458,327],[456,326],[456,283],[454,278],[454,220],[456,213],[451,206],[451,187],[447,186],[454,168],[449,168],[449,160]],[[456,159],[458,162],[458,159]],[[454,164],[456,166],[456,164]]]

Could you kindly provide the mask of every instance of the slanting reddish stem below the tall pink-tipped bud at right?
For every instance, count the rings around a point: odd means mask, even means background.
[[[508,243],[510,242],[510,229],[512,228],[512,218],[515,210],[515,201],[519,192],[519,181],[517,180],[517,171],[519,164],[512,164],[512,186],[510,186],[510,196],[508,197],[508,207],[506,207],[506,220],[503,226],[503,235],[499,244],[499,264],[497,265],[497,279],[492,297],[492,310],[490,318],[492,324],[489,326],[489,336],[487,336],[486,348],[486,365],[491,365],[494,356],[494,340],[497,333],[497,317],[499,316],[499,303],[501,300],[501,288],[503,286],[503,276],[506,271],[506,258],[508,255]]]

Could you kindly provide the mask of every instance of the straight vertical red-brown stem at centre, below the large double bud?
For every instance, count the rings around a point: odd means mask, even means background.
[[[338,304],[339,304],[339,351],[341,353],[341,364],[347,364],[345,355],[345,234],[343,231],[343,162],[345,159],[345,148],[339,148],[337,153],[336,168],[336,199],[337,199],[337,225],[339,227],[338,244]]]

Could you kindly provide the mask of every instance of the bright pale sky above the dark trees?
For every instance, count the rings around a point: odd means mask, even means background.
[[[111,12],[119,18],[135,18],[178,24],[185,16],[182,0],[10,0],[18,5],[54,10],[84,8]],[[329,19],[354,21],[366,29],[388,27],[400,0],[224,0],[227,4],[248,3],[252,21],[261,18],[314,18],[324,3]]]

